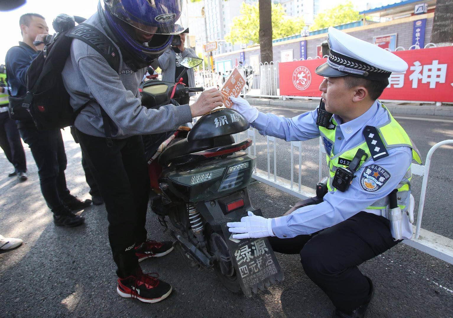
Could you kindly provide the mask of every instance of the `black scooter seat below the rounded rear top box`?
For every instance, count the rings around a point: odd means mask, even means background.
[[[187,138],[185,138],[165,148],[159,156],[158,163],[159,165],[166,167],[172,162],[172,160],[178,159],[181,156],[193,154],[194,152],[207,150],[217,146],[231,145],[233,143],[233,136],[221,136],[212,139],[192,141],[188,141]]]

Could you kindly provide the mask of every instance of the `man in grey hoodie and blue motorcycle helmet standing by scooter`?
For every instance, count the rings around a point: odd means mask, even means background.
[[[138,5],[137,2],[140,4]],[[203,92],[189,106],[141,105],[139,84],[146,67],[182,32],[185,1],[101,0],[86,23],[104,33],[120,52],[120,68],[86,43],[74,39],[63,81],[75,110],[76,133],[90,165],[109,220],[109,240],[118,267],[117,292],[126,298],[154,303],[166,298],[171,285],[143,274],[139,262],[173,250],[171,242],[147,239],[145,229],[149,177],[140,135],[175,130],[192,117],[222,106],[217,89]],[[101,109],[109,120],[102,119]],[[106,142],[108,126],[111,142]],[[108,130],[107,130],[108,131]]]

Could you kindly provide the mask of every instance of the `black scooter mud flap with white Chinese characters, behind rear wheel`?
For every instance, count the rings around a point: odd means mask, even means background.
[[[253,213],[262,216],[260,209]],[[222,224],[222,231],[244,295],[251,297],[252,292],[264,290],[264,286],[275,281],[283,281],[283,272],[267,238],[233,239],[226,224]]]

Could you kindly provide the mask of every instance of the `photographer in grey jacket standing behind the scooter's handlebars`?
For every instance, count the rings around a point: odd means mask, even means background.
[[[165,50],[164,54],[159,56],[158,62],[159,67],[162,70],[162,80],[165,82],[178,82],[179,74],[184,70],[184,66],[181,65],[181,61],[184,57],[198,57],[195,54],[195,50],[190,47],[184,47],[184,42],[186,41],[186,35],[189,33],[189,29],[186,29],[179,36],[175,35],[171,46]],[[187,87],[195,86],[195,76],[193,74],[193,69],[187,70],[187,72],[182,76],[183,84]],[[186,98],[179,98],[178,103],[181,105],[188,104],[190,96],[195,95],[195,93],[190,93]]]

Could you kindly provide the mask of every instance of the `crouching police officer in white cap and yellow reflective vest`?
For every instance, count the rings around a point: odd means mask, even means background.
[[[249,212],[227,226],[233,238],[269,236],[276,252],[300,253],[305,273],[333,302],[333,317],[364,317],[373,284],[357,266],[411,238],[410,165],[421,160],[377,100],[390,74],[404,72],[407,63],[335,28],[329,28],[328,42],[328,60],[316,69],[324,76],[317,109],[284,118],[231,98],[233,109],[261,135],[286,141],[321,136],[329,167],[325,191],[283,216]]]

